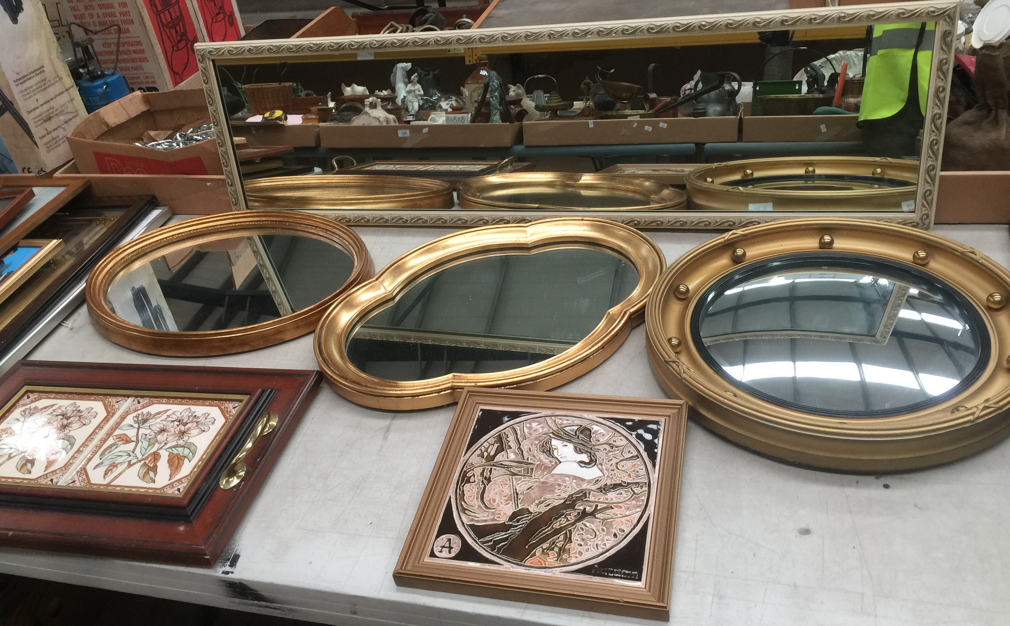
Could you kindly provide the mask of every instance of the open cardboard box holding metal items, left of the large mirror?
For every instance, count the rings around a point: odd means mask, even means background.
[[[208,120],[202,89],[133,92],[85,118],[67,142],[82,174],[223,174],[213,139],[172,150],[133,145],[144,132],[186,130]]]

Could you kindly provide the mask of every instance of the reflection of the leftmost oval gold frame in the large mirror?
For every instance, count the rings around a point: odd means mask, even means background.
[[[403,176],[279,176],[246,181],[250,209],[451,209],[442,181]]]

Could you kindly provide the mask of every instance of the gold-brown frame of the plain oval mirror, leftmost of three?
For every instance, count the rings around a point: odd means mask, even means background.
[[[334,293],[276,319],[217,330],[156,330],[130,323],[116,315],[107,295],[122,277],[148,262],[194,246],[221,247],[224,241],[257,239],[257,235],[305,237],[329,244],[350,262],[349,277]],[[223,249],[223,248],[222,248]],[[241,270],[248,275],[262,270],[263,252],[250,250]],[[332,269],[330,269],[332,270]],[[232,270],[231,272],[235,272]],[[326,271],[325,268],[321,271]],[[196,217],[164,226],[109,252],[88,276],[85,294],[95,328],[107,339],[140,352],[166,356],[207,356],[244,352],[310,333],[325,310],[343,293],[373,276],[372,258],[358,234],[342,224],[297,211],[232,211]],[[230,278],[230,277],[229,277]],[[266,277],[264,277],[266,279]],[[272,297],[276,286],[265,281]],[[304,304],[304,303],[303,303]],[[278,307],[280,310],[280,307]]]

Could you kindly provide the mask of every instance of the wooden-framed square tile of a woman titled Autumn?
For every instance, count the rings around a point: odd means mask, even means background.
[[[669,619],[687,405],[467,389],[397,585]]]

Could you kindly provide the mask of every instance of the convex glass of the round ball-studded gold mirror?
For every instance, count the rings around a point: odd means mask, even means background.
[[[952,287],[909,266],[798,253],[713,285],[692,335],[733,386],[816,415],[882,417],[929,408],[981,376],[990,338]]]

